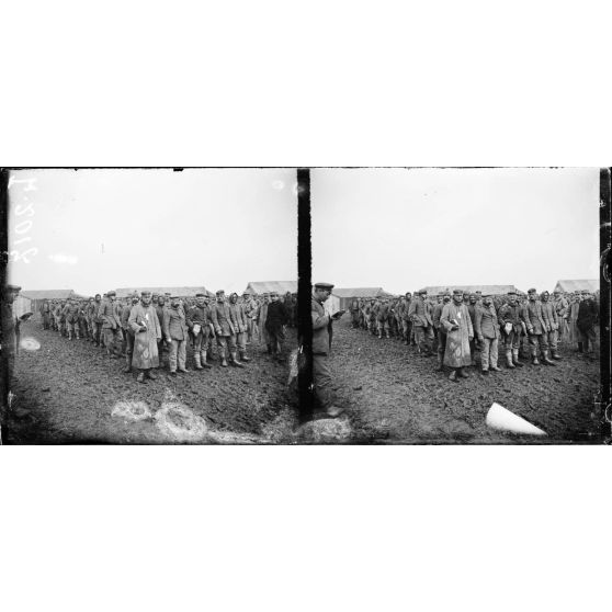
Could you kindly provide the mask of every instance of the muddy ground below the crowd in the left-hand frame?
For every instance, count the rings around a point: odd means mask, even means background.
[[[174,443],[155,418],[139,421],[114,416],[121,403],[145,407],[152,416],[169,404],[190,409],[203,419],[216,440],[235,441],[243,434],[260,435],[267,426],[295,415],[296,397],[287,389],[288,369],[265,354],[265,345],[249,347],[252,361],[243,369],[220,367],[168,376],[146,385],[136,374],[123,374],[123,360],[110,360],[105,351],[86,340],[69,341],[43,330],[37,320],[22,326],[21,338],[34,338],[38,350],[20,350],[14,394],[5,439],[12,444],[66,443]],[[295,347],[296,333],[287,329],[286,350]],[[188,369],[193,369],[188,349]],[[206,440],[211,442],[211,440]]]

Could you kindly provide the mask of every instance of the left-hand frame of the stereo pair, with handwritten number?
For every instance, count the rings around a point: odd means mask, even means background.
[[[5,179],[4,443],[273,438],[297,398],[295,170]]]

